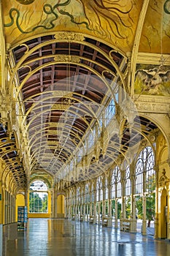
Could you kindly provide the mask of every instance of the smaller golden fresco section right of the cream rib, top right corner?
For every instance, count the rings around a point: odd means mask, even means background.
[[[150,0],[139,51],[169,53],[170,45],[170,0]]]

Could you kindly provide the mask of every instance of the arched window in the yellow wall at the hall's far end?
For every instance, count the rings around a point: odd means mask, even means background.
[[[29,212],[48,212],[48,187],[43,181],[34,181],[29,187]]]

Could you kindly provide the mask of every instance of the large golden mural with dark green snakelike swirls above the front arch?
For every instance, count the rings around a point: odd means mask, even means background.
[[[141,0],[3,0],[5,34],[11,43],[48,31],[81,31],[129,50],[141,7]]]

